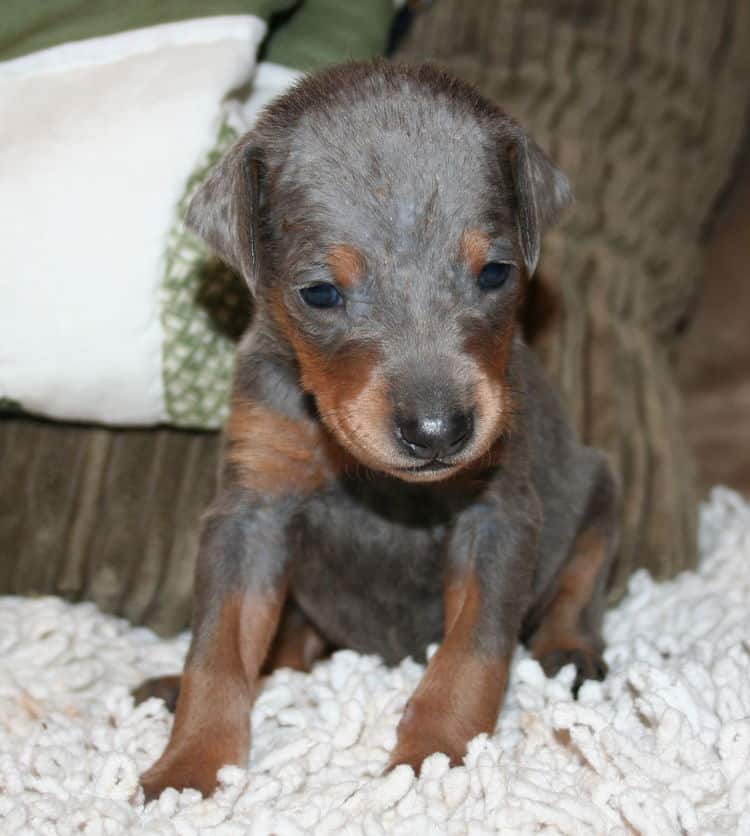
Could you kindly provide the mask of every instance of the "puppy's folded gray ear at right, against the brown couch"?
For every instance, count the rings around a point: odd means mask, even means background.
[[[526,271],[532,276],[539,262],[542,235],[572,202],[573,193],[568,178],[523,132],[511,142],[509,156],[518,240]]]

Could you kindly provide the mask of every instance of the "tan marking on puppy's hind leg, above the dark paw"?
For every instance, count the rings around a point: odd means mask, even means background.
[[[560,571],[557,589],[531,641],[537,658],[556,650],[588,648],[581,617],[596,589],[607,556],[607,541],[597,529],[576,539],[572,557]]]

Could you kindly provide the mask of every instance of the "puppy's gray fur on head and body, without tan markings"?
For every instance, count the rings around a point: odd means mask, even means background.
[[[474,652],[508,658],[519,637],[533,637],[576,538],[588,530],[608,544],[581,625],[601,650],[613,480],[603,457],[573,437],[536,360],[514,336],[541,236],[569,199],[564,176],[515,122],[428,66],[352,64],[308,78],[219,164],[188,220],[255,295],[235,397],[330,431],[320,392],[302,386],[300,358],[275,314],[282,305],[332,374],[367,349],[387,381],[393,416],[474,410],[475,438],[448,462],[449,478],[412,483],[399,478],[410,459],[386,416],[383,426],[357,428],[377,438],[379,463],[345,470],[310,494],[280,497],[243,487],[227,461],[204,525],[188,670],[216,653],[213,625],[229,596],[284,584],[334,646],[389,662],[421,656],[443,637],[446,577],[465,573],[481,586]],[[516,265],[500,290],[481,291],[459,258],[466,230],[491,239],[488,261]],[[305,306],[299,288],[332,281],[326,256],[342,243],[366,263],[346,290],[345,310]],[[502,409],[509,415],[488,439],[493,425],[478,401],[476,352],[498,337],[507,338]],[[181,757],[183,744],[170,744],[163,763]],[[160,768],[152,787],[170,780]]]

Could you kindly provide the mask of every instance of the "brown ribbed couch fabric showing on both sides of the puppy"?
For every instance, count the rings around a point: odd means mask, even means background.
[[[577,204],[545,242],[558,305],[538,348],[579,432],[621,474],[613,594],[634,567],[692,565],[669,355],[741,133],[750,4],[438,0],[400,57],[475,81],[569,174]],[[0,423],[0,592],[92,598],[162,632],[185,626],[217,449],[211,434]]]

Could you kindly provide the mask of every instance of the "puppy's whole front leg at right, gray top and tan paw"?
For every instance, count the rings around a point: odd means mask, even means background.
[[[532,503],[533,505],[533,503]],[[474,507],[459,519],[445,586],[445,638],[406,706],[389,768],[419,772],[433,752],[461,763],[466,744],[491,733],[528,606],[536,520],[518,508]]]

